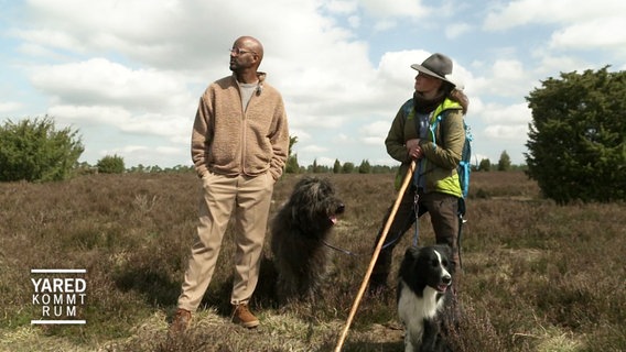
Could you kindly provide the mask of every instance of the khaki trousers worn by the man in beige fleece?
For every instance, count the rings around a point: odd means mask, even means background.
[[[211,283],[226,228],[234,215],[235,275],[230,304],[247,302],[259,278],[274,180],[208,173],[202,178],[197,238],[185,272],[179,308],[195,311]]]

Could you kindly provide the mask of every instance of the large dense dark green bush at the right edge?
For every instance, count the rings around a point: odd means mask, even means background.
[[[626,72],[585,70],[542,81],[532,110],[528,175],[559,204],[626,200]]]

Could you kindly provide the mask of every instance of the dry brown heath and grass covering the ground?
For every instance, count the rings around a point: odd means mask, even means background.
[[[296,177],[277,184],[274,205]],[[327,175],[347,205],[331,242],[324,297],[277,307],[271,273],[253,311],[261,328],[229,323],[230,240],[192,329],[166,339],[196,224],[198,182],[183,175],[91,175],[0,184],[0,350],[330,351],[369,263],[392,175]],[[557,206],[521,173],[474,173],[464,227],[460,351],[626,350],[623,204]],[[229,234],[227,234],[228,237]],[[428,217],[420,241],[432,243]],[[268,239],[269,240],[269,239]],[[410,245],[407,233],[399,246]],[[397,250],[399,256],[403,251]],[[271,263],[266,262],[265,265]],[[87,268],[87,324],[31,326],[31,268]],[[365,297],[345,351],[401,351],[393,298]]]

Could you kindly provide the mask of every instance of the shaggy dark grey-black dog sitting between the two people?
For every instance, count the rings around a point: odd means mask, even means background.
[[[327,179],[304,177],[271,223],[271,251],[279,301],[310,299],[326,274],[324,244],[345,206]]]

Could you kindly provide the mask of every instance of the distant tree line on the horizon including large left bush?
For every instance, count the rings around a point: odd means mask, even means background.
[[[52,182],[64,180],[74,175],[86,174],[122,174],[122,173],[187,173],[193,172],[192,165],[176,165],[161,167],[158,165],[126,166],[123,157],[114,154],[106,155],[96,165],[87,162],[78,163],[78,157],[85,150],[78,131],[69,128],[57,130],[54,119],[44,118],[24,119],[20,122],[9,120],[0,129],[2,140],[0,146],[0,182],[26,180]],[[296,136],[290,138],[289,157],[285,165],[287,174],[389,174],[395,173],[397,166],[371,165],[368,160],[361,161],[357,166],[352,162],[341,163],[335,160],[333,166],[313,164],[301,166],[298,155],[292,147],[298,143]],[[474,170],[492,170],[494,165],[488,160],[481,161]],[[503,152],[497,165],[498,170],[511,169],[510,157]]]

